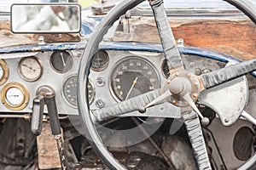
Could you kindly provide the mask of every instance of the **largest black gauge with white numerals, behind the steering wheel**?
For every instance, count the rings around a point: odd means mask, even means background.
[[[111,89],[119,100],[160,88],[160,79],[148,60],[131,57],[121,60],[112,71]]]

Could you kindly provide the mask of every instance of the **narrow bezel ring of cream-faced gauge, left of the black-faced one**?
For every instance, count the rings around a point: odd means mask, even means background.
[[[37,61],[38,65],[40,66],[40,73],[39,73],[38,77],[27,78],[27,77],[24,75],[24,73],[21,71],[21,65],[20,65],[20,64],[21,64],[24,60],[26,60],[26,59],[34,59],[34,60]],[[18,64],[18,72],[19,72],[20,77],[21,77],[23,80],[25,80],[26,82],[36,82],[40,77],[42,77],[43,72],[44,72],[44,67],[43,67],[43,65],[42,65],[41,60],[38,59],[38,57],[36,57],[36,56],[29,56],[29,57],[24,57],[24,58],[20,59],[19,64]]]

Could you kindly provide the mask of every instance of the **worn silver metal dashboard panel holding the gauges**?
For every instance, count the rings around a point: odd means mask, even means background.
[[[166,82],[167,73],[164,69],[165,58],[160,52],[111,49],[103,49],[100,52],[100,55],[96,54],[92,59],[92,67],[96,68],[90,69],[90,109],[102,108],[105,105],[112,105],[120,100],[160,88]],[[69,54],[71,57],[71,67],[62,72],[55,69],[52,64],[55,59],[52,58],[56,53],[64,54],[65,59],[65,54]],[[15,82],[20,83],[27,89],[29,99],[23,109],[16,111],[6,106],[2,99],[0,112],[32,112],[32,101],[37,95],[38,88],[46,86],[53,88],[55,91],[56,105],[59,114],[78,115],[79,112],[76,106],[76,76],[78,74],[79,61],[82,54],[82,49],[65,50],[61,52],[41,51],[3,54],[2,58],[9,66],[9,77],[0,87],[1,95],[3,97],[6,96],[6,86]],[[61,65],[60,63],[63,62],[63,56],[61,55],[59,56],[60,59],[55,61],[57,66]],[[38,59],[42,67],[42,75],[36,80],[29,81],[20,75],[20,60],[26,59],[27,57]],[[189,71],[195,72],[195,74],[217,70],[224,66],[224,64],[217,64],[221,62],[214,59],[204,59],[193,55],[183,55],[183,60],[186,68]],[[120,97],[119,95],[123,96]],[[171,107],[170,104],[166,103],[165,105],[154,107],[154,109],[148,109],[147,112],[160,111],[166,113],[168,109],[171,109],[168,106]],[[44,111],[47,112],[46,107]]]

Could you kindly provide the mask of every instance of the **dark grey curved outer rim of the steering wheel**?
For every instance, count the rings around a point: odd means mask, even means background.
[[[79,108],[79,116],[81,117],[82,126],[84,128],[84,133],[86,138],[89,140],[91,146],[96,151],[96,153],[102,158],[102,161],[110,168],[110,169],[126,169],[122,164],[116,160],[113,155],[108,151],[107,147],[102,144],[102,139],[99,134],[96,132],[96,127],[94,126],[94,122],[90,116],[90,105],[87,98],[87,89],[85,85],[88,83],[89,74],[90,74],[90,61],[92,56],[96,53],[98,49],[99,43],[102,41],[102,37],[108,31],[107,28],[113,26],[115,20],[118,20],[122,14],[131,8],[137,6],[137,4],[142,3],[144,0],[130,0],[123,1],[119,3],[115,8],[108,13],[96,27],[96,31],[91,35],[89,42],[87,43],[83,57],[80,61],[79,65],[79,75],[78,75],[78,108]],[[236,8],[241,9],[244,14],[253,20],[256,24],[256,9],[252,8],[247,4],[245,0],[224,0],[234,6]],[[85,94],[85,95],[83,95]]]

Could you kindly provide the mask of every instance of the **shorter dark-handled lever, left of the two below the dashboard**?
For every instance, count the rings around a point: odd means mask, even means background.
[[[31,131],[36,136],[42,132],[44,104],[44,96],[41,94],[33,99]]]

